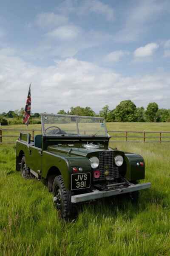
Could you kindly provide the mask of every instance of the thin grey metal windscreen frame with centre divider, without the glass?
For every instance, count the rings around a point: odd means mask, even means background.
[[[45,123],[43,122],[43,116],[59,116],[59,117],[75,117],[76,119],[76,128],[77,128],[77,134],[78,135],[65,135],[63,136],[63,134],[60,134],[60,135],[57,135],[57,134],[53,134],[52,136],[51,135],[48,135],[48,134],[45,134]],[[79,118],[83,118],[83,119],[98,119],[98,120],[102,120],[104,126],[105,126],[105,135],[100,135],[100,136],[96,136],[97,134],[97,131],[96,133],[94,132],[93,135],[83,135],[83,134],[79,134],[79,126],[78,126],[78,119]],[[105,124],[105,119],[103,117],[99,117],[99,116],[75,116],[75,115],[64,115],[64,114],[47,114],[47,113],[41,113],[41,128],[42,128],[42,135],[45,136],[45,137],[109,137],[108,135],[108,131],[107,131],[107,128],[106,128],[106,124]]]

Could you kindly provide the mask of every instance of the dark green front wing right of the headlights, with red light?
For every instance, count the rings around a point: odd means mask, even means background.
[[[139,162],[144,163],[144,159],[142,156],[140,156],[139,154],[126,153],[125,154],[125,162],[127,165],[127,171],[126,171],[125,178],[127,180],[132,181],[132,180],[144,179],[144,175],[145,175],[144,166],[142,167],[142,166],[136,165],[136,163],[139,163]]]

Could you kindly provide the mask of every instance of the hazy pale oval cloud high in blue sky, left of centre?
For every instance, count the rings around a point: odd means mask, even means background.
[[[74,38],[77,38],[80,32],[81,29],[77,26],[66,25],[60,26],[57,29],[48,32],[46,35],[56,39],[59,38],[61,40],[72,40]]]

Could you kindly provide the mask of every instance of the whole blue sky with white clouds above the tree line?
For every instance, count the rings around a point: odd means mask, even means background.
[[[0,113],[170,108],[169,0],[1,0]]]

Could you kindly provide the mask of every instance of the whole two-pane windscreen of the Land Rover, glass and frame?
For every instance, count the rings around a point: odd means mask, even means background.
[[[41,114],[45,136],[108,136],[104,118]]]

